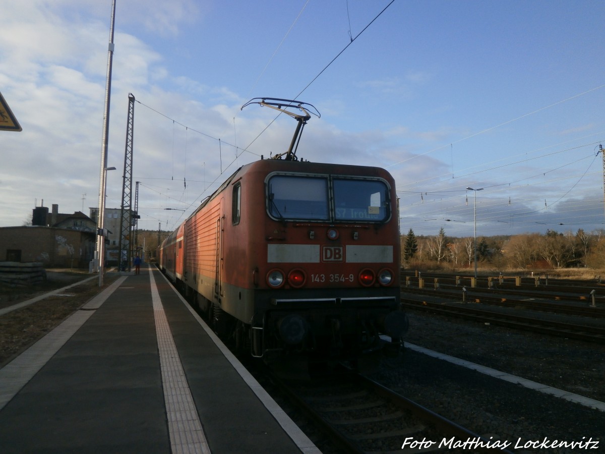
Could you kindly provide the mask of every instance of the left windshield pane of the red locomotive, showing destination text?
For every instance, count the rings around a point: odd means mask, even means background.
[[[286,175],[271,177],[267,211],[274,219],[329,220],[328,179]]]

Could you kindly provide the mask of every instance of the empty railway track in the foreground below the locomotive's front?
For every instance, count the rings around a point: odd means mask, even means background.
[[[272,380],[343,452],[509,453],[499,441],[482,438],[353,372],[306,383]]]

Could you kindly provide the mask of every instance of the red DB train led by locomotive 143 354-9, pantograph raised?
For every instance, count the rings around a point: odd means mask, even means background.
[[[408,321],[393,178],[298,160],[310,105],[258,104],[298,120],[289,150],[238,168],[162,242],[160,269],[217,334],[268,364],[356,367],[385,347],[399,350]]]

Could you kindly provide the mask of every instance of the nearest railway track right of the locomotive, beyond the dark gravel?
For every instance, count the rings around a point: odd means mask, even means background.
[[[605,343],[605,328],[584,324],[562,323],[544,318],[525,317],[522,315],[504,314],[485,309],[466,308],[450,304],[437,303],[420,299],[402,297],[402,307],[420,311],[432,311],[439,314],[454,314],[459,317],[497,324],[532,332],[555,335],[558,337],[574,338],[584,341]]]

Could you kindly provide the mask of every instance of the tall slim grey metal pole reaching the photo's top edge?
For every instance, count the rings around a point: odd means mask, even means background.
[[[116,0],[111,2],[111,27],[110,27],[110,44],[108,47],[107,56],[107,76],[105,85],[105,111],[103,113],[103,139],[101,142],[101,170],[99,184],[99,212],[97,213],[97,253],[96,258],[99,260],[99,287],[103,286],[103,268],[105,267],[105,237],[103,232],[105,229],[105,189],[107,177],[107,142],[109,137],[110,125],[110,99],[111,99],[111,64],[113,62],[114,51],[114,18],[116,16]]]

